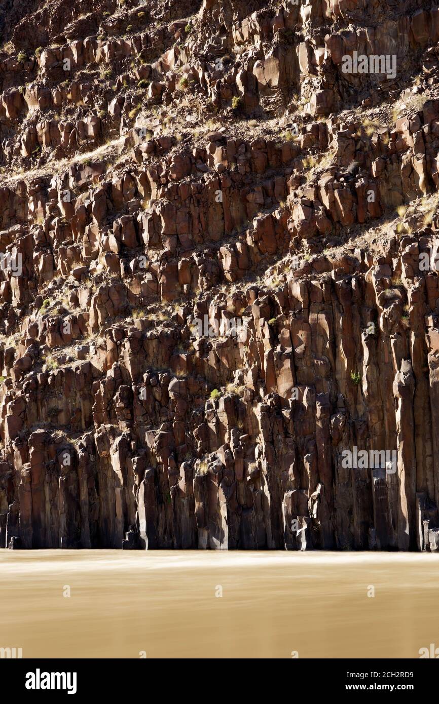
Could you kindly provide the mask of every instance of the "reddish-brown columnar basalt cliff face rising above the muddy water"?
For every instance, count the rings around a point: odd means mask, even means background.
[[[438,551],[439,6],[0,28],[0,547]]]

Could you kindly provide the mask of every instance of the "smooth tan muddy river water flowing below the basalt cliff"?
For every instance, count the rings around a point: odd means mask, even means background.
[[[419,658],[439,646],[438,598],[439,557],[426,553],[0,550],[0,647],[23,658]]]

